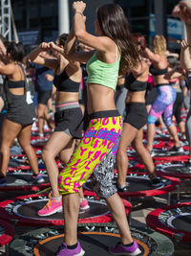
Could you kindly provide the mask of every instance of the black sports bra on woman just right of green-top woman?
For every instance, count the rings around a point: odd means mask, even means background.
[[[132,92],[145,91],[147,87],[147,81],[138,81],[134,78],[134,75],[130,73],[125,78],[125,87]]]

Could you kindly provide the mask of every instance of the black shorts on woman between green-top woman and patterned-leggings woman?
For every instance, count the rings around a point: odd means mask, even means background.
[[[148,113],[143,103],[131,103],[126,105],[126,116],[123,123],[128,123],[132,127],[140,129],[147,122]]]

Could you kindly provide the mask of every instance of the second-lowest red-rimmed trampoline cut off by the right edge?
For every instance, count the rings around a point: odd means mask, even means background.
[[[184,163],[163,163],[156,166],[159,175],[170,175],[180,178],[191,178],[191,168]]]

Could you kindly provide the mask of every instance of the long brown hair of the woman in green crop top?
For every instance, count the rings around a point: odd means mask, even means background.
[[[138,65],[138,50],[129,31],[127,18],[117,4],[108,4],[96,10],[96,18],[103,33],[113,39],[121,51],[119,73],[126,74]]]

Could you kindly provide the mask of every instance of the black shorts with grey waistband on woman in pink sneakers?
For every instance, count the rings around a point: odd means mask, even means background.
[[[54,114],[54,120],[54,131],[64,131],[76,139],[82,137],[83,115],[80,107],[57,111]]]

